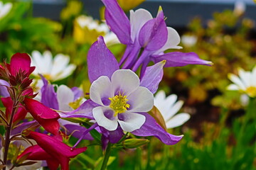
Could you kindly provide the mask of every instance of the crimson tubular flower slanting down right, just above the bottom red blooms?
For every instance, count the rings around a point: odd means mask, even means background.
[[[60,118],[60,115],[58,115],[57,112],[31,98],[24,98],[23,105],[25,106],[26,110],[31,113],[33,118],[43,126],[43,128],[53,135],[58,134],[58,130],[60,129],[58,119]]]

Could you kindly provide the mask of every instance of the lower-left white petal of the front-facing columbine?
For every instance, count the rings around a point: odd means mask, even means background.
[[[99,106],[97,108],[92,109],[92,115],[95,118],[98,125],[102,126],[106,130],[116,130],[118,126],[117,120],[114,118],[107,118],[104,114],[105,111],[107,111],[105,107]]]

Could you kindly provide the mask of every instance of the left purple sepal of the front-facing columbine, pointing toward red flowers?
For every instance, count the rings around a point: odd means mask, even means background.
[[[79,108],[75,109],[74,111],[70,112],[60,112],[61,118],[89,118],[94,119],[92,115],[92,109],[100,106],[97,103],[93,102],[92,100],[87,100],[82,103]]]

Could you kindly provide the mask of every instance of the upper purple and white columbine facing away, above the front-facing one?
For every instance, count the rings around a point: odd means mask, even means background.
[[[123,69],[137,71],[142,65],[143,76],[147,64],[166,60],[164,67],[181,67],[187,64],[211,65],[212,62],[201,60],[195,52],[168,52],[165,50],[179,49],[180,37],[176,30],[166,27],[164,13],[159,9],[156,18],[149,11],[138,9],[130,11],[127,18],[116,0],[102,0],[106,6],[105,19],[110,29],[117,35],[119,41],[127,45],[119,66]],[[143,49],[142,55],[139,52]],[[123,65],[122,65],[123,64]]]

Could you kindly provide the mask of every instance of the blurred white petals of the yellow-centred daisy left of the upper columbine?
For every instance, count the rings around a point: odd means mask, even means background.
[[[102,36],[104,37],[107,46],[119,43],[117,35],[110,32],[106,23],[99,24],[99,22],[95,21],[92,17],[84,15],[78,16],[76,21],[81,28],[88,28],[89,30],[96,30],[97,33],[104,33]]]

